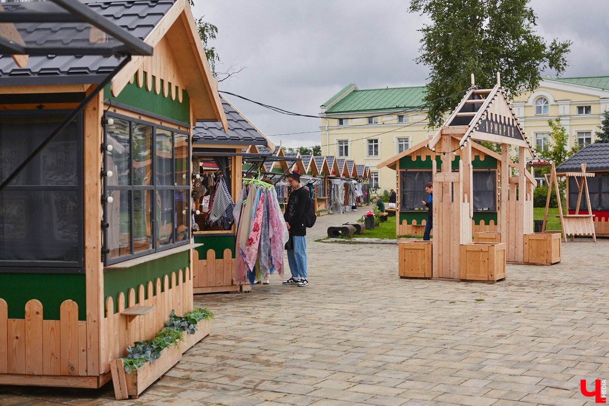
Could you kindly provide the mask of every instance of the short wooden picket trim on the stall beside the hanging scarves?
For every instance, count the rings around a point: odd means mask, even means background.
[[[197,250],[192,251],[193,293],[238,292],[235,281],[235,260],[230,248],[216,259],[216,251],[207,250],[206,258],[199,259]]]

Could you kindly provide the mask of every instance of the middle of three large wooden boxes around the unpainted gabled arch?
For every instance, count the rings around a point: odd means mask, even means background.
[[[505,278],[505,243],[474,242],[461,245],[464,281],[496,282]]]

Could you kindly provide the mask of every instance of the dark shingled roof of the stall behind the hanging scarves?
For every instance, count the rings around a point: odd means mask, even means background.
[[[197,121],[197,125],[192,129],[192,135],[198,136],[199,141],[194,142],[192,146],[200,147],[202,144],[266,146],[267,139],[252,127],[247,119],[241,116],[239,111],[233,108],[224,97],[220,96],[220,99],[222,99],[224,114],[227,116],[228,133],[224,132],[222,123],[219,121]],[[259,150],[261,151],[261,149]]]

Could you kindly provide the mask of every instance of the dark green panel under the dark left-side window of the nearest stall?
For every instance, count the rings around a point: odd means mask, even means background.
[[[9,318],[25,318],[26,303],[38,299],[44,320],[59,320],[62,302],[78,304],[79,320],[86,320],[84,273],[0,273],[0,298],[9,307]]]

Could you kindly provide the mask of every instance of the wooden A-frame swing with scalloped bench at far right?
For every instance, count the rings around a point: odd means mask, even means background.
[[[560,227],[563,234],[563,238],[565,242],[567,242],[567,235],[571,235],[571,241],[575,238],[575,236],[592,236],[592,240],[596,242],[596,231],[594,230],[594,222],[593,217],[594,214],[590,205],[590,193],[588,192],[588,180],[586,178],[593,178],[594,173],[586,172],[586,164],[582,164],[582,172],[561,172],[556,173],[555,164],[552,163],[552,169],[550,172],[550,178],[548,180],[547,173],[544,175],[546,177],[546,182],[548,184],[547,187],[547,200],[546,200],[546,211],[543,214],[543,226],[542,229],[546,229],[546,220],[547,220],[547,209],[550,206],[550,197],[552,194],[552,187],[556,188],[556,199],[558,202],[558,212],[560,217]],[[575,214],[563,214],[563,206],[560,202],[560,189],[558,189],[558,177],[564,176],[566,178],[573,177],[575,178],[577,190],[579,194],[577,195],[577,206]],[[577,178],[580,178],[579,182]],[[566,198],[569,198],[569,182],[567,184]],[[582,203],[582,195],[583,191],[585,191],[586,195],[586,206],[588,210],[588,214],[579,214],[580,203]]]

